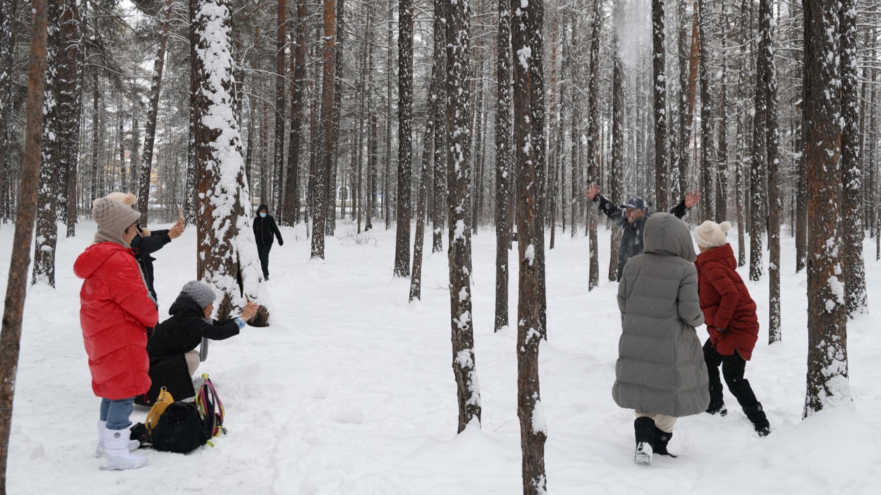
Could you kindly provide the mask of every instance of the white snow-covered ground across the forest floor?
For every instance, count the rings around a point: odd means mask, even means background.
[[[392,277],[394,229],[352,242],[340,223],[327,260],[309,260],[305,229],[283,228],[270,255],[274,325],[211,345],[201,371],[226,406],[229,434],[188,455],[142,451],[149,464],[107,472],[93,458],[99,399],[90,388],[78,321],[76,256],[94,225],[59,241],[57,287],[27,295],[12,425],[10,493],[511,494],[521,489],[515,329],[492,332],[492,230],[474,238],[475,348],[480,429],[455,434],[446,252],[426,254],[423,299]],[[0,260],[11,252],[0,231]],[[190,228],[156,257],[160,314],[196,275]],[[734,231],[729,234],[737,242]],[[445,236],[446,239],[446,236]],[[746,376],[774,431],[765,438],[726,391],[727,417],[679,420],[677,459],[633,463],[633,412],[611,400],[620,319],[607,281],[609,234],[600,234],[601,284],[587,290],[588,242],[557,233],[547,253],[548,341],[541,347],[551,493],[877,493],[881,486],[881,263],[866,243],[873,314],[848,324],[854,410],[802,420],[807,332],[805,275],[783,239],[783,341],[768,346],[767,281],[749,283],[762,332]],[[737,248],[737,247],[736,247]],[[511,260],[515,261],[512,252]],[[0,263],[5,291],[8,263]],[[512,263],[516,266],[516,263]],[[746,278],[746,270],[742,269]],[[516,316],[511,277],[511,319]],[[699,329],[706,338],[705,329]],[[132,419],[143,421],[136,406]]]

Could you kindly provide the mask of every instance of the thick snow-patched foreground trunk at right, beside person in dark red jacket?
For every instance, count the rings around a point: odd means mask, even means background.
[[[840,276],[839,11],[804,0],[805,126],[808,169],[808,375],[803,416],[852,407],[847,301]]]

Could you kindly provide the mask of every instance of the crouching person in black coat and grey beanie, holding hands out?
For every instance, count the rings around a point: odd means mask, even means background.
[[[254,301],[233,320],[213,321],[216,294],[207,284],[188,282],[168,310],[171,318],[160,322],[147,341],[147,355],[150,357],[150,379],[152,385],[145,396],[136,398],[137,403],[149,404],[159,396],[165,387],[180,401],[196,395],[191,377],[199,367],[199,351],[196,346],[202,337],[211,340],[224,340],[239,335],[245,322],[254,317],[259,305]]]

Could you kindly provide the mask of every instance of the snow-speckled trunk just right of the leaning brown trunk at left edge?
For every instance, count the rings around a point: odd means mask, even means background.
[[[61,36],[63,2],[48,6],[46,43],[46,96],[43,99],[43,141],[40,167],[40,189],[37,197],[37,230],[33,249],[31,284],[55,287],[55,255],[58,241],[56,207],[58,204],[58,137],[61,115],[58,115],[58,43]]]

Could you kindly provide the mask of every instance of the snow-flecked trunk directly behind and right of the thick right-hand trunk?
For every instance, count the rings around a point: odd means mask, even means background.
[[[860,129],[859,94],[856,91],[856,0],[840,2],[840,58],[841,58],[841,184],[842,195],[848,198],[841,206],[844,211],[844,290],[848,301],[848,316],[864,313],[866,298],[866,270],[862,261],[862,165],[858,152]]]

